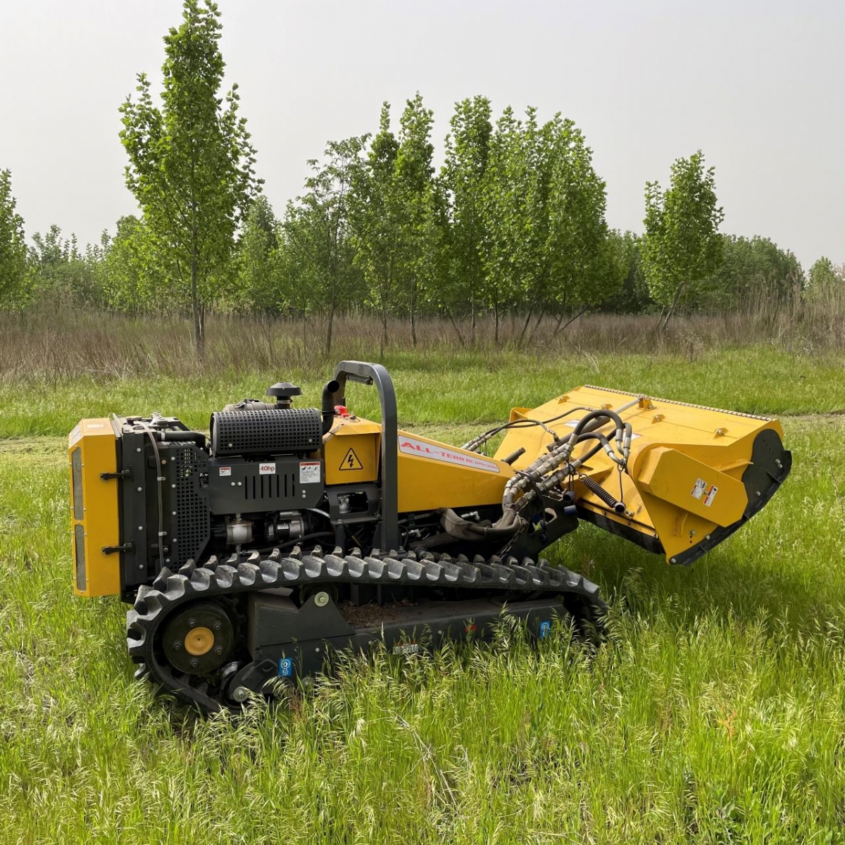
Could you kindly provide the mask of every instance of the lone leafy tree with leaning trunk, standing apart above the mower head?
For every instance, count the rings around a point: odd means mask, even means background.
[[[641,241],[643,270],[651,297],[662,307],[665,330],[681,295],[714,273],[722,262],[719,224],[724,211],[717,206],[716,168],[705,170],[698,150],[672,165],[671,187],[646,183],[646,233]]]

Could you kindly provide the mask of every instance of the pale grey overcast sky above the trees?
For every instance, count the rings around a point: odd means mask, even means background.
[[[845,262],[845,2],[221,0],[226,84],[237,81],[277,213],[328,139],[398,119],[419,90],[434,141],[475,94],[562,112],[608,184],[608,223],[641,231],[646,180],[701,148],[723,231],[771,237],[804,269]],[[136,204],[117,108],[154,79],[178,0],[0,0],[0,169],[26,232],[80,242]],[[440,152],[438,153],[440,155]]]

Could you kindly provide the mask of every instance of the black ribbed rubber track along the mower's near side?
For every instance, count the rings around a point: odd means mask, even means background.
[[[593,620],[607,610],[595,584],[546,560],[535,564],[527,558],[520,563],[515,558],[484,560],[477,556],[470,561],[462,555],[453,559],[447,554],[417,554],[403,549],[390,553],[374,549],[364,557],[357,549],[343,555],[340,548],[335,548],[334,553],[323,556],[319,546],[307,554],[295,548],[287,557],[282,557],[277,548],[267,557],[258,552],[233,554],[225,563],[212,557],[201,566],[188,561],[177,572],[164,567],[152,586],[139,588],[134,607],[126,614],[129,656],[140,664],[135,677],[148,678],[160,684],[161,691],[171,692],[204,710],[226,706],[203,679],[180,673],[158,660],[156,632],[186,602],[309,583],[570,593],[586,602]]]

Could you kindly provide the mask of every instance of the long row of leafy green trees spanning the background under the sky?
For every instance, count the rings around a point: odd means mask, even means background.
[[[24,307],[63,297],[125,313],[190,313],[198,349],[204,317],[226,312],[319,317],[332,345],[335,315],[400,316],[417,339],[437,315],[472,343],[484,315],[494,339],[518,314],[519,342],[543,320],[564,330],[587,309],[662,313],[735,308],[845,286],[819,259],[804,277],[765,237],[719,232],[715,172],[701,150],[646,184],[644,232],[605,218],[606,186],[581,130],[536,109],[493,117],[485,96],[455,105],[434,165],[433,112],[417,93],[394,127],[326,144],[308,161],[303,193],[277,215],[262,193],[237,86],[221,97],[221,21],[214,3],[185,0],[164,38],[164,87],[155,104],[139,74],[121,106],[127,186],[140,214],[80,250],[57,226],[25,243],[11,174],[0,173],[0,297]],[[488,321],[484,322],[485,327]]]

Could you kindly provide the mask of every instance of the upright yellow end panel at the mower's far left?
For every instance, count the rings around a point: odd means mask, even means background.
[[[70,502],[77,596],[110,596],[120,592],[120,555],[102,549],[120,543],[117,438],[109,419],[82,420],[68,437]]]

